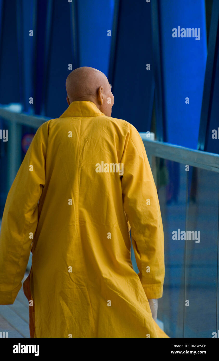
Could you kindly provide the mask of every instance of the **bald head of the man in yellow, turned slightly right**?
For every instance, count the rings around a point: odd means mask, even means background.
[[[106,75],[101,71],[82,66],[67,77],[66,92],[68,104],[73,101],[92,101],[106,116],[111,116],[114,97]]]

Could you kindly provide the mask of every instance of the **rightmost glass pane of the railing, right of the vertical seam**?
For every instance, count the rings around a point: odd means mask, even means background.
[[[199,238],[185,241],[184,337],[209,338],[216,332],[219,175],[193,167],[188,175],[187,229]]]

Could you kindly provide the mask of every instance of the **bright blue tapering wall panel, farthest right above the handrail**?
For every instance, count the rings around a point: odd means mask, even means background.
[[[168,0],[159,5],[166,141],[197,149],[207,58],[205,1]],[[178,26],[200,28],[200,40],[173,38],[172,29]]]

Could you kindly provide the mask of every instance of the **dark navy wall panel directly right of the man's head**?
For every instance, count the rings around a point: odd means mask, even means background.
[[[120,1],[112,56],[112,117],[125,119],[139,132],[151,129],[154,100],[150,11],[146,1]],[[150,70],[146,70],[146,64],[150,64]]]

